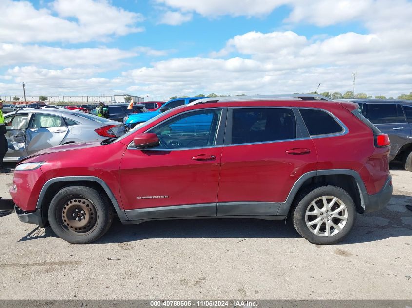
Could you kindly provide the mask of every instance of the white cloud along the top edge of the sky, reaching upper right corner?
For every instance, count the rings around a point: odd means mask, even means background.
[[[261,17],[282,5],[291,8],[284,21],[324,27],[360,21],[370,30],[411,28],[412,3],[408,0],[156,0],[168,8],[197,13],[207,18],[218,16]]]

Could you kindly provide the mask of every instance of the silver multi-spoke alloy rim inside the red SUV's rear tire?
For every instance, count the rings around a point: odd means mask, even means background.
[[[314,199],[306,209],[306,226],[317,236],[334,236],[348,221],[348,209],[341,199],[322,196]]]

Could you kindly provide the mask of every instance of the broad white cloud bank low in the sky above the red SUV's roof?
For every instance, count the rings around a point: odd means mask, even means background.
[[[390,29],[389,29],[390,30]],[[133,91],[156,95],[270,94],[352,90],[397,96],[412,85],[412,50],[408,38],[384,33],[344,33],[316,40],[292,31],[256,31],[229,39],[217,58],[175,58],[123,73],[131,77]],[[222,59],[231,53],[237,57]]]

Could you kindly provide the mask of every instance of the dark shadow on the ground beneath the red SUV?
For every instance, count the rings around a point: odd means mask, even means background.
[[[383,210],[357,216],[352,232],[340,245],[374,242],[390,237],[412,236],[412,197],[393,195]],[[48,228],[35,227],[19,241],[58,237]],[[95,244],[124,243],[151,238],[300,238],[291,218],[259,219],[183,219],[148,221],[122,225],[115,218],[112,227]]]

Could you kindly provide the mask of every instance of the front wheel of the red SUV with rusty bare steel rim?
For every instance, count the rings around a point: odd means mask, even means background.
[[[47,212],[50,227],[69,243],[87,244],[98,240],[113,222],[110,200],[96,189],[69,186],[61,189]]]

